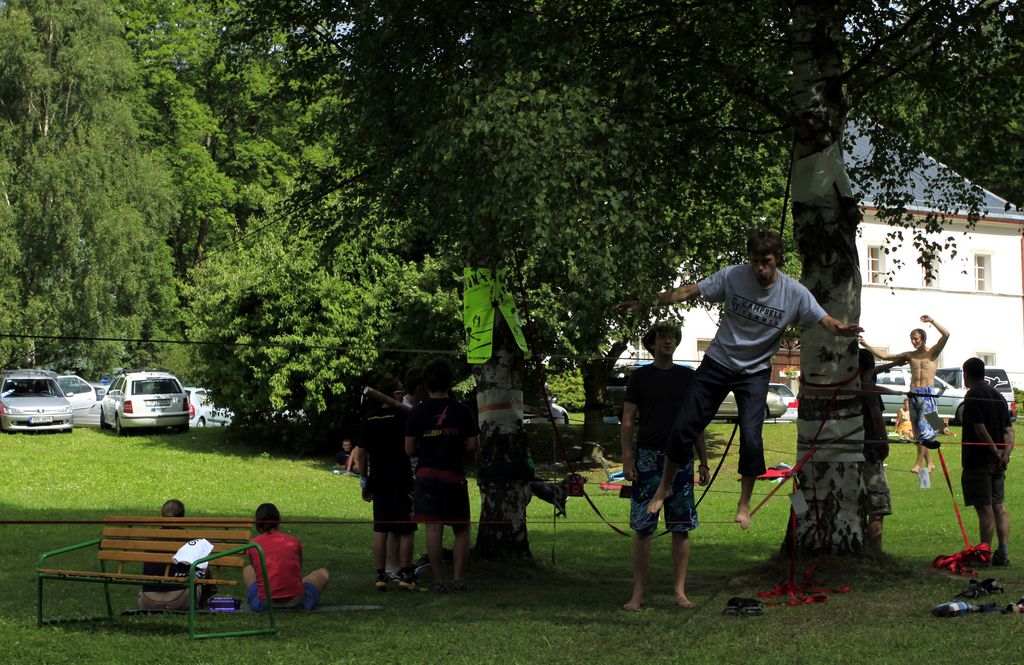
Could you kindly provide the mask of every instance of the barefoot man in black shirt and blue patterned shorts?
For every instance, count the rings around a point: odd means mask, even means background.
[[[623,606],[626,610],[639,610],[643,607],[651,540],[657,530],[657,512],[651,513],[647,509],[662,483],[669,432],[693,378],[693,370],[672,362],[681,336],[677,324],[655,324],[643,339],[644,346],[654,356],[654,361],[635,371],[626,385],[622,426],[623,472],[627,480],[633,482],[630,527],[636,532],[633,540],[633,596]],[[634,431],[637,429],[639,431],[636,433],[634,450]],[[708,483],[709,469],[703,433],[697,438],[694,448],[700,458],[700,484],[705,485]],[[680,607],[692,608],[693,604],[686,597],[689,532],[697,526],[697,513],[693,505],[692,451],[689,452],[689,463],[680,464],[676,470],[672,490],[664,508],[666,529],[672,532],[675,598]]]

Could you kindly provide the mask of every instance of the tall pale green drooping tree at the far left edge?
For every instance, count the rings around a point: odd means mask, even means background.
[[[0,6],[5,367],[99,374],[157,352],[175,319],[177,201],[138,132],[140,79],[101,0]],[[44,337],[40,337],[44,336]]]

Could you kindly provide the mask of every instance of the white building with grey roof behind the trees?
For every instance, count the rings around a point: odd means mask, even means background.
[[[851,151],[853,159],[870,150],[866,140],[858,140]],[[913,202],[908,213],[923,216],[934,210],[929,207],[927,182],[941,169],[945,167],[928,160],[910,178],[907,188]],[[939,367],[959,366],[977,356],[1006,370],[1016,386],[1024,387],[1024,214],[1008,211],[1007,201],[985,192],[984,217],[970,233],[965,233],[966,215],[947,215],[945,232],[933,240],[944,243],[954,237],[955,256],[953,248],[944,250],[929,282],[918,263],[911,234],[904,232],[902,244],[887,240],[892,227],[876,218],[870,183],[858,184],[854,189],[859,190],[864,213],[857,238],[864,338],[876,348],[898,352],[911,348],[912,329],[924,328],[932,343],[938,332],[922,324],[921,316],[927,314],[950,333]],[[678,362],[699,362],[718,329],[718,316],[717,308],[706,307],[692,307],[685,314]],[[639,354],[631,349],[631,355],[646,356],[642,349]],[[797,369],[799,363],[799,351],[780,349],[773,360],[772,380],[787,382],[793,372],[785,368]]]

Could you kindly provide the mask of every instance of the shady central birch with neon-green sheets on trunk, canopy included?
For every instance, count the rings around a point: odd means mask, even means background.
[[[609,77],[587,31],[566,35],[561,7],[253,4],[253,20],[288,36],[289,77],[310,107],[321,100],[316,126],[333,132],[337,158],[305,186],[358,202],[325,232],[362,233],[371,201],[372,222],[415,220],[401,222],[408,255],[429,253],[453,274],[505,268],[535,352],[583,369],[589,425],[600,424],[600,390],[625,347],[608,340],[637,325],[610,304],[653,291],[681,263],[721,261],[699,251],[701,241],[729,228],[739,244],[744,217],[764,210],[760,181],[714,165],[739,158],[735,172],[750,174],[771,151],[719,150],[702,127],[678,121],[727,122],[721,99],[693,81],[685,93],[658,89],[639,61]],[[338,101],[323,103],[326,90]],[[671,107],[651,105],[657,97]],[[476,372],[486,523],[477,550],[528,553],[525,432],[493,407],[521,403],[521,376],[534,370],[501,317],[496,331],[492,360]]]

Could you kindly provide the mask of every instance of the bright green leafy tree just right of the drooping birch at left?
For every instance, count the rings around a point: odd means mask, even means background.
[[[143,135],[179,193],[168,240],[181,279],[265,212],[297,168],[303,114],[278,94],[286,81],[272,36],[240,37],[239,4],[115,3],[144,82]]]

